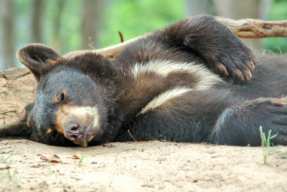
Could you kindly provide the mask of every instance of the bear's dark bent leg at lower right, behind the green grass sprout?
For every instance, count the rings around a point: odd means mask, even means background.
[[[274,145],[287,145],[287,97],[259,98],[226,109],[219,117],[210,142],[222,145],[261,146],[260,126],[272,130]]]

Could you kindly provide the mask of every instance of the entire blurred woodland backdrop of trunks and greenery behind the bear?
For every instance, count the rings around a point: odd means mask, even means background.
[[[118,31],[128,40],[196,14],[286,20],[286,7],[287,0],[0,0],[0,67],[19,66],[16,50],[28,43],[65,54],[120,43]],[[286,53],[287,38],[256,46]]]

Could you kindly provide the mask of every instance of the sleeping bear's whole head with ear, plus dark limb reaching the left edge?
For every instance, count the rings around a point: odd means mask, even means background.
[[[21,119],[0,128],[1,137],[25,136],[57,146],[100,144],[113,137],[109,118],[116,72],[109,58],[94,53],[63,58],[42,44],[19,49],[17,58],[35,76],[36,95]]]

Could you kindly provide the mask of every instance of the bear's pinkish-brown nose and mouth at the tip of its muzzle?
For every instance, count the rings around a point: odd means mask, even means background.
[[[87,146],[84,126],[78,120],[72,120],[66,123],[64,135],[75,144]]]

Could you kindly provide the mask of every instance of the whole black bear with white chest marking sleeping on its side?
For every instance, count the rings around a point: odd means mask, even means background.
[[[278,134],[274,145],[287,145],[287,58],[253,53],[212,16],[156,30],[114,58],[67,59],[42,44],[17,57],[38,81],[36,96],[0,137],[91,146],[133,141],[131,134],[260,146],[262,126]]]

